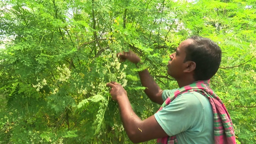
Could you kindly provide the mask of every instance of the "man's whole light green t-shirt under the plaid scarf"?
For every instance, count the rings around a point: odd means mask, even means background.
[[[164,90],[162,99],[176,90]],[[166,134],[176,135],[179,144],[214,144],[212,106],[198,92],[179,95],[154,115]]]

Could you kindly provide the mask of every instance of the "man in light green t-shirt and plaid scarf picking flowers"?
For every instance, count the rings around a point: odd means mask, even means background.
[[[209,88],[209,79],[221,62],[220,47],[208,38],[193,36],[181,42],[170,55],[167,73],[179,89],[161,90],[148,70],[139,72],[146,95],[161,106],[141,120],[132,110],[127,92],[117,82],[107,83],[118,102],[124,129],[133,143],[158,139],[160,144],[235,143],[231,119],[225,106]],[[121,60],[138,64],[133,52],[119,53]],[[224,126],[223,126],[224,124]]]

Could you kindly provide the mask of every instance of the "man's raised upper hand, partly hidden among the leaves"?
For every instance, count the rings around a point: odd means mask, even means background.
[[[118,53],[118,57],[120,58],[121,62],[126,61],[128,59],[130,62],[137,64],[140,62],[140,58],[138,55],[136,55],[134,52],[129,51],[129,52],[123,52],[123,53]]]

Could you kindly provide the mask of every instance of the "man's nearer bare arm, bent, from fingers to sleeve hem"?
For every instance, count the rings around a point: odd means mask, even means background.
[[[167,134],[156,121],[154,115],[141,120],[132,110],[126,90],[117,82],[107,83],[111,87],[112,99],[117,101],[124,129],[133,143],[166,137]]]

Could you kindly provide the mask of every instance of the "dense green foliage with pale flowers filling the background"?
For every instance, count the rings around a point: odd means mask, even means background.
[[[4,0],[0,16],[0,143],[131,143],[106,83],[125,86],[142,119],[159,106],[116,53],[133,50],[174,89],[169,54],[192,35],[222,48],[212,89],[237,142],[256,142],[254,0]]]

